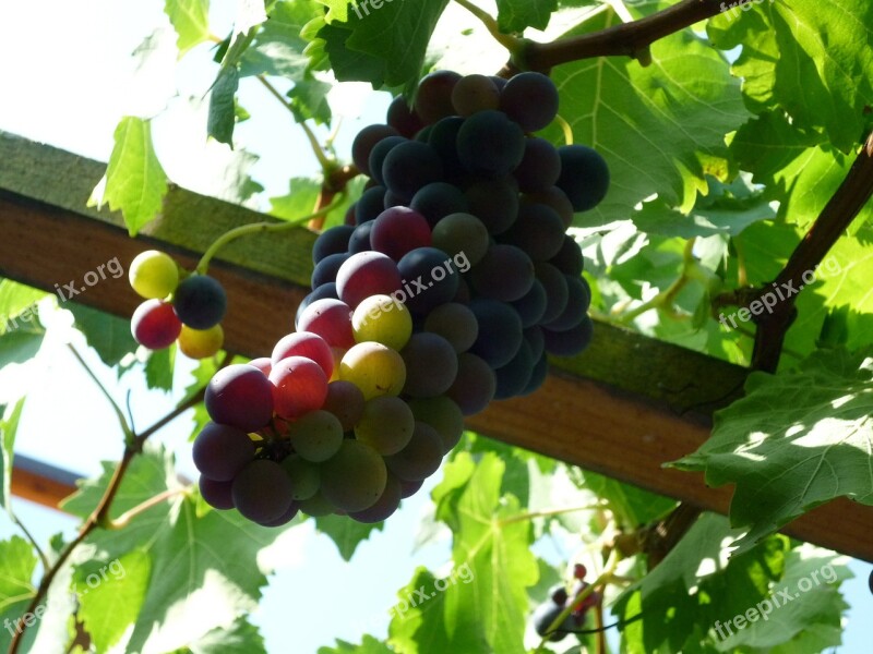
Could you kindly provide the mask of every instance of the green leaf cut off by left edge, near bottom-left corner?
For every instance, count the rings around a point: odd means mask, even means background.
[[[12,536],[9,541],[0,541],[0,645],[4,649],[12,642],[12,633],[16,629],[22,629],[24,625],[20,621],[25,608],[31,600],[36,595],[33,585],[33,577],[36,571],[36,553],[31,544],[21,536]],[[45,605],[41,610],[35,611],[29,616],[31,625],[28,631],[34,626],[34,618],[46,610]]]

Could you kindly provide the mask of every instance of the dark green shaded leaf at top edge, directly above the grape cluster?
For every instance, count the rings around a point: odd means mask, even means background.
[[[373,88],[409,86],[418,81],[428,41],[449,0],[375,0],[351,4],[348,22],[330,23],[326,41],[336,78],[370,82]]]

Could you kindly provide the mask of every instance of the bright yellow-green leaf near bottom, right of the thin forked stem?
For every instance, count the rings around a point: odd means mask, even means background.
[[[98,652],[108,652],[136,621],[148,588],[152,560],[132,550],[109,564],[86,561],[73,573],[79,619]]]

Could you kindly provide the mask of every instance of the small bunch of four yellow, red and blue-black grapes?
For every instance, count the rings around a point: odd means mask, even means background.
[[[172,257],[156,250],[136,255],[129,279],[133,290],[146,299],[131,318],[137,343],[162,350],[178,342],[179,350],[191,359],[205,359],[222,349],[227,295],[217,280],[187,275]]]

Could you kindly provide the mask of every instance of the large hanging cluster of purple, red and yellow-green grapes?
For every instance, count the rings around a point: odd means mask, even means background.
[[[530,135],[555,118],[539,73],[426,76],[364,128],[370,180],[316,239],[312,292],[270,358],[210,382],[194,443],[204,499],[260,524],[391,516],[494,399],[534,392],[546,353],[590,340],[565,234],[606,194],[602,158]]]

